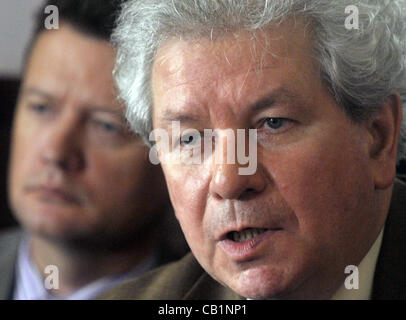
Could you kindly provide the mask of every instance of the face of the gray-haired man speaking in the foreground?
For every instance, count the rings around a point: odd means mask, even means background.
[[[323,86],[311,40],[296,28],[271,30],[267,39],[175,40],[153,68],[154,128],[171,133],[171,120],[179,120],[182,133],[258,130],[253,175],[214,154],[190,165],[160,155],[196,258],[250,298],[331,296],[382,225],[369,131]],[[179,144],[181,156],[188,143]]]

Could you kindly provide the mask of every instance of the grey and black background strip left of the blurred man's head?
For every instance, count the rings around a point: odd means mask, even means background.
[[[33,32],[33,15],[43,0],[0,0],[0,228],[14,225],[7,204],[10,130],[23,56]]]

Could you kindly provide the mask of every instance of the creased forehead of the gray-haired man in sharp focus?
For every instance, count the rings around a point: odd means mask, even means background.
[[[303,39],[296,41],[293,35],[290,40],[296,47],[292,46],[286,32],[268,34],[271,39],[243,34],[215,42],[168,43],[158,52],[152,79],[154,100],[160,100],[159,117],[196,118],[198,110],[205,111],[210,103],[222,105],[223,98],[235,110],[254,110],[249,106],[261,105],[264,100],[269,104],[271,96],[284,104],[304,101],[298,82],[308,82],[305,79],[316,69],[308,43],[298,49]],[[158,92],[166,97],[160,99]]]

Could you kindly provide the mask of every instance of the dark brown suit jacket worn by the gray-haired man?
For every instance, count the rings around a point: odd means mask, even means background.
[[[406,184],[396,181],[374,275],[372,299],[406,299]],[[362,227],[362,226],[360,226]],[[190,253],[182,260],[130,280],[99,299],[233,300]]]

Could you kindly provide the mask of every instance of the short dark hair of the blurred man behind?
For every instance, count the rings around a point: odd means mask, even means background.
[[[45,8],[58,8],[59,22],[68,23],[86,35],[110,40],[123,0],[47,0],[35,16],[33,40],[45,31]]]

